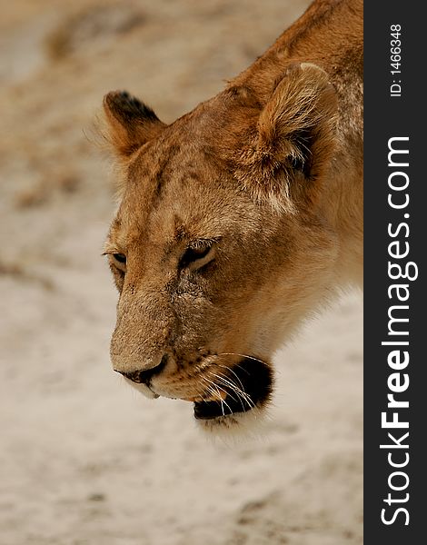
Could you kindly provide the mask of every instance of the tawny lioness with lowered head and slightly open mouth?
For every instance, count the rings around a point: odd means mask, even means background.
[[[362,281],[362,0],[316,0],[173,124],[126,92],[104,112],[123,173],[114,371],[237,429],[271,399],[273,352]]]

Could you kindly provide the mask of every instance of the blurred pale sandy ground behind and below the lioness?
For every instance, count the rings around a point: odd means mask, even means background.
[[[0,21],[0,544],[362,543],[362,296],[277,354],[261,438],[206,441],[111,371],[103,95],[164,121],[223,87],[305,1],[15,0]],[[88,135],[88,136],[87,136]]]

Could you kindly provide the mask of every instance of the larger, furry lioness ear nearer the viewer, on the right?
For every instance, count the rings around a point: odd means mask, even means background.
[[[293,64],[258,118],[256,136],[243,157],[240,177],[257,200],[292,208],[293,179],[313,185],[331,160],[337,97],[328,75],[315,64]]]

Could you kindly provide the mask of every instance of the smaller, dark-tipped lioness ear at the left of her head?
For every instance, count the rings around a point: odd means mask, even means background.
[[[154,111],[126,91],[104,96],[107,140],[121,157],[133,154],[165,127]]]

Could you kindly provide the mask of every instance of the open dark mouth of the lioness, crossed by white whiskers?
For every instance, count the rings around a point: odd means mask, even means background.
[[[217,399],[194,401],[194,418],[212,420],[252,411],[267,403],[273,391],[271,367],[255,358],[244,358],[230,368],[228,380],[218,385]]]

